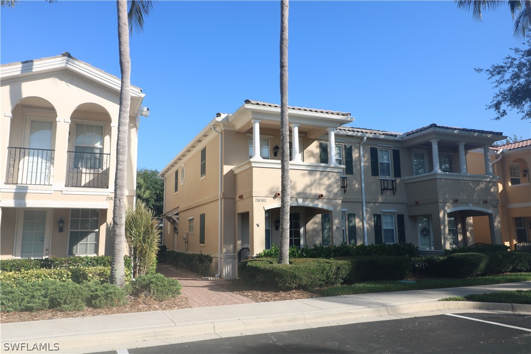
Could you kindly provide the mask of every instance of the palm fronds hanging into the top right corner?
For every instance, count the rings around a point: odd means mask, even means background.
[[[531,25],[531,0],[457,0],[458,8],[472,11],[472,16],[478,21],[482,21],[484,10],[495,10],[502,4],[508,4],[512,18],[515,19],[515,37],[525,37],[526,31]]]

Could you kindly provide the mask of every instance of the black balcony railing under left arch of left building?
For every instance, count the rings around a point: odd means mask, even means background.
[[[52,184],[54,150],[7,147],[6,184]]]

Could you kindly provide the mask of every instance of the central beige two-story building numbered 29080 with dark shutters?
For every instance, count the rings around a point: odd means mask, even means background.
[[[346,126],[349,113],[289,108],[290,245],[404,243],[442,252],[473,243],[476,215],[501,243],[489,146],[502,133],[429,125],[408,133]],[[280,107],[246,100],[218,114],[160,172],[164,243],[209,253],[236,277],[237,253],[278,244]],[[481,148],[485,170],[467,170]]]

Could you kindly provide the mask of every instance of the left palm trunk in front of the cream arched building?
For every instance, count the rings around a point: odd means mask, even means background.
[[[117,0],[118,50],[122,87],[118,111],[118,135],[116,143],[116,174],[114,178],[113,208],[113,261],[110,282],[119,287],[125,283],[125,182],[127,177],[127,135],[129,133],[129,108],[131,105],[131,58],[129,56],[129,23],[127,1]]]

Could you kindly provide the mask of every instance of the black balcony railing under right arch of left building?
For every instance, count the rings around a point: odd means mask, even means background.
[[[67,151],[67,187],[108,188],[110,154]]]

